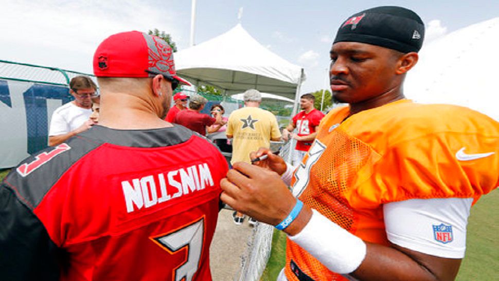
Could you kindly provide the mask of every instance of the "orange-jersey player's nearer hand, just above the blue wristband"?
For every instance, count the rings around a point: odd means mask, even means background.
[[[276,225],[293,209],[296,199],[276,172],[243,162],[222,179],[221,199],[252,218]]]

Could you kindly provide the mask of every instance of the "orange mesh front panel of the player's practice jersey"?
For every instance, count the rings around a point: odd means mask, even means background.
[[[383,233],[383,218],[379,216],[380,210],[366,210],[365,214],[354,213],[345,198],[358,172],[366,164],[372,165],[372,161],[379,159],[377,153],[368,145],[338,129],[322,135],[318,142],[314,146],[319,146],[322,142],[325,146],[322,149],[312,148],[311,155],[307,154],[304,159],[307,165],[301,165],[296,171],[297,174],[301,174],[310,167],[310,180],[299,199],[351,233],[355,233],[359,224],[362,223],[375,226],[379,233]],[[308,162],[314,161],[314,153],[320,153],[320,157],[311,165],[312,163]],[[295,188],[300,188],[300,183],[296,184],[295,179],[293,184]],[[378,242],[385,242],[385,239],[383,236],[378,239],[381,240]],[[291,272],[289,266],[291,260],[314,280],[343,280],[342,276],[329,271],[309,253],[288,240],[286,275],[289,280],[298,280]]]

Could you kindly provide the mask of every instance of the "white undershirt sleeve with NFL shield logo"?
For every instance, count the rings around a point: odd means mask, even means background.
[[[473,198],[411,199],[383,205],[388,240],[445,258],[463,258]]]

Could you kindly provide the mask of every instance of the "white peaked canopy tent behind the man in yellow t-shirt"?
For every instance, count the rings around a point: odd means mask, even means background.
[[[218,87],[227,96],[257,89],[295,99],[305,80],[302,67],[263,47],[240,24],[176,52],[175,67],[177,74],[191,83]]]

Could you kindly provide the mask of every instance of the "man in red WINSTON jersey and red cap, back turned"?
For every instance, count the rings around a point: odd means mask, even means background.
[[[97,48],[94,73],[99,124],[24,160],[0,186],[1,278],[211,280],[227,163],[164,120],[173,89],[187,84],[170,46],[114,34]]]

